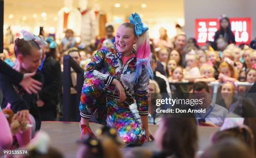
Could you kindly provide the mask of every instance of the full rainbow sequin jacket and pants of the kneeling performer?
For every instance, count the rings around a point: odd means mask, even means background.
[[[141,76],[134,84],[136,57],[123,64],[121,56],[115,47],[103,47],[95,54],[84,72],[79,109],[85,116],[92,115],[90,121],[115,128],[127,146],[138,146],[145,141],[146,132],[129,105],[136,99],[138,110],[148,111],[149,77],[142,68]],[[110,77],[123,85],[127,96],[125,102],[120,102],[115,86],[107,85]]]

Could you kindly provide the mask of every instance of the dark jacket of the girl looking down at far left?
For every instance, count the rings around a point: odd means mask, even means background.
[[[37,73],[32,78],[40,82],[44,80],[44,77],[40,73]],[[28,94],[19,84],[12,84],[11,81],[12,79],[10,77],[0,74],[0,89],[3,91],[2,108],[5,108],[10,103],[14,113],[20,110],[29,110],[29,113],[35,118],[36,130],[39,130],[41,119],[36,105],[37,95]]]

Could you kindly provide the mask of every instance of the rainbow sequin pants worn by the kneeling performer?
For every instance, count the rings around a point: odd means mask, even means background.
[[[129,109],[132,103],[133,97],[121,103],[118,96],[106,94],[103,81],[90,78],[84,81],[79,110],[83,118],[115,128],[127,146],[140,146],[146,131]]]

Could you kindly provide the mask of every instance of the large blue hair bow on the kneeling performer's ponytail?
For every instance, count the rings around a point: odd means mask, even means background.
[[[128,19],[133,25],[135,25],[136,36],[139,36],[143,32],[148,30],[148,26],[146,25],[146,23],[141,22],[141,17],[137,13],[131,14],[131,16],[128,17]]]

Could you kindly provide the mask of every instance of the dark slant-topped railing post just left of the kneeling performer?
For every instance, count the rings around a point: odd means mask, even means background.
[[[73,113],[73,111],[75,113],[73,119],[79,120],[80,115],[78,106],[84,81],[84,70],[69,55],[64,55],[63,66],[63,121],[71,121],[71,113]],[[70,102],[71,67],[74,69],[74,72],[77,73],[77,104]]]

